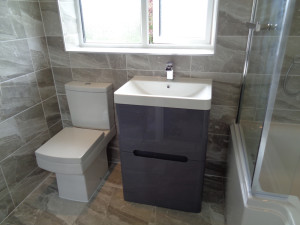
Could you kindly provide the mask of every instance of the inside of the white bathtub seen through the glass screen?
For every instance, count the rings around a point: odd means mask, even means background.
[[[259,177],[262,191],[300,198],[299,139],[300,125],[271,124]]]

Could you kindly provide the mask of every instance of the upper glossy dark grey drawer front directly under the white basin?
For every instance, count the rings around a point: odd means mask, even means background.
[[[153,151],[204,160],[209,110],[117,104],[120,150]]]

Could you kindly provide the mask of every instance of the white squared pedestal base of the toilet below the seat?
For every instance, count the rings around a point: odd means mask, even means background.
[[[56,180],[59,197],[68,200],[88,202],[108,171],[106,148],[83,174],[58,174]]]

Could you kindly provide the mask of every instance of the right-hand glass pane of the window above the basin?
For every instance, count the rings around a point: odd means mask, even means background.
[[[208,0],[154,0],[153,10],[154,43],[209,41]]]

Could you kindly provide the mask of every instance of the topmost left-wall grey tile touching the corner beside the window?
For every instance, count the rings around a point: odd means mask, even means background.
[[[22,23],[27,37],[44,36],[44,28],[38,2],[20,1]]]

